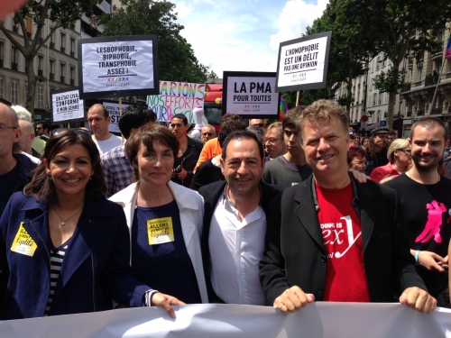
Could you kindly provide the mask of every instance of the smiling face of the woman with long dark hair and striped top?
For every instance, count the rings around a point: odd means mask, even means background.
[[[44,159],[44,163],[47,159]],[[57,196],[83,198],[87,181],[94,175],[89,151],[81,144],[61,148],[46,165]]]

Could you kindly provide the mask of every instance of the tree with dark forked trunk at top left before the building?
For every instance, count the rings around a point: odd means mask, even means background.
[[[21,27],[22,39],[17,39],[5,28],[3,22],[0,23],[0,30],[5,33],[6,38],[13,43],[14,47],[22,53],[25,59],[25,73],[28,78],[26,108],[32,113],[33,118],[36,82],[46,80],[46,78],[35,75],[33,59],[36,57],[38,50],[44,47],[45,43],[50,39],[53,32],[60,27],[71,27],[80,19],[83,13],[89,17],[96,3],[97,0],[30,0],[13,17],[14,23]],[[29,36],[26,31],[28,16],[32,17],[32,21],[36,25],[34,36]],[[53,24],[47,35],[45,34],[47,30],[43,29],[46,19],[50,19]]]

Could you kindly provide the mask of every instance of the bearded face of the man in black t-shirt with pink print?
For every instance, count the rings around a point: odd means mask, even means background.
[[[422,172],[437,170],[437,165],[443,159],[443,153],[449,143],[445,142],[445,132],[440,125],[415,128],[411,145],[411,157],[416,169]]]

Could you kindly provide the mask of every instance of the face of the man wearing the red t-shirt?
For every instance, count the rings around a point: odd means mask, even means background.
[[[316,177],[347,170],[349,135],[335,116],[304,123],[302,141],[308,166]]]

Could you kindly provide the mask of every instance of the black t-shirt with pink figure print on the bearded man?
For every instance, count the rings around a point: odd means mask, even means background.
[[[420,184],[406,174],[385,183],[400,196],[410,249],[433,251],[446,257],[451,238],[451,179],[441,177],[436,184]],[[429,293],[437,297],[447,287],[447,275],[419,267]]]

